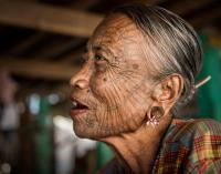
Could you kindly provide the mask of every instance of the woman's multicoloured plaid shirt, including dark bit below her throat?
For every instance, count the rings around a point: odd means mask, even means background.
[[[99,174],[125,173],[117,161]],[[162,140],[152,174],[221,174],[221,124],[189,120],[170,125]]]

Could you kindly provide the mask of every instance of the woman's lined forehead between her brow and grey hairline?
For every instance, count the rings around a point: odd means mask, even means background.
[[[114,14],[108,17],[96,29],[88,47],[107,47],[112,50],[119,51],[125,44],[138,43],[140,37],[139,30],[127,17]]]

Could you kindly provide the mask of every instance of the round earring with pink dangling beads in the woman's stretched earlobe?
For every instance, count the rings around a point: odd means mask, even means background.
[[[165,114],[165,111],[161,106],[154,106],[150,109],[150,111],[147,114],[147,125],[158,125],[159,119]]]

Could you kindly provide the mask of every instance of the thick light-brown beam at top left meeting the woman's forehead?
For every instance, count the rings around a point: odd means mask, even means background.
[[[24,1],[0,0],[0,23],[90,37],[103,16]]]

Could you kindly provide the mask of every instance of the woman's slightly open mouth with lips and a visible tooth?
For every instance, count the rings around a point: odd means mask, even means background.
[[[81,103],[80,101],[75,99],[71,99],[72,101],[72,109],[71,109],[71,116],[74,117],[76,115],[83,114],[88,111],[88,106]]]

